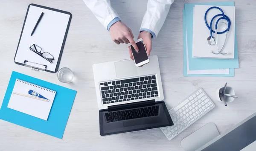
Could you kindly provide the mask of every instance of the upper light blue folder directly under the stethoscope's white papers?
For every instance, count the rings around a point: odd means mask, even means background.
[[[192,58],[192,43],[193,43],[193,8],[195,5],[214,5],[214,6],[234,6],[234,2],[215,2],[215,3],[187,3],[185,4],[186,26],[187,26],[187,41],[189,54],[189,70],[209,70],[209,69],[227,69],[238,68],[238,50],[237,39],[235,37],[235,56],[234,59],[207,59],[207,58]],[[231,24],[232,26],[232,24]],[[234,25],[233,25],[234,26]],[[236,32],[235,32],[236,36]]]

